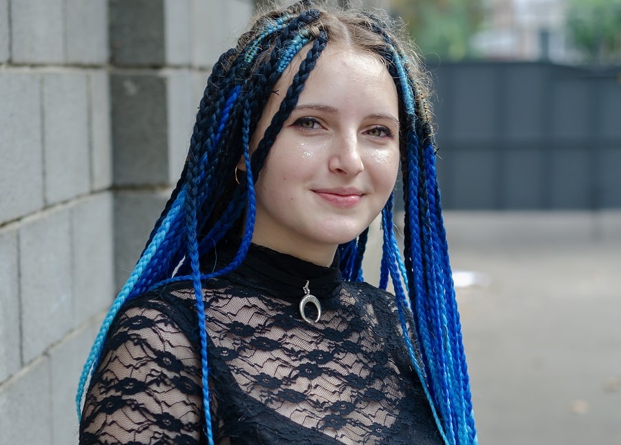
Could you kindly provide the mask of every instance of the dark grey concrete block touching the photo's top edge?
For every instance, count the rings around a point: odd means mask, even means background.
[[[164,65],[164,0],[110,0],[109,6],[112,63]]]

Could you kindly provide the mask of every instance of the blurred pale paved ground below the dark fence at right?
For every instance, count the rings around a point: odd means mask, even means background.
[[[445,221],[480,443],[621,444],[621,214]]]

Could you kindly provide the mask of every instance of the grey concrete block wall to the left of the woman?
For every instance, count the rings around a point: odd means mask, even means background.
[[[0,0],[0,445],[77,443],[81,366],[252,11]]]

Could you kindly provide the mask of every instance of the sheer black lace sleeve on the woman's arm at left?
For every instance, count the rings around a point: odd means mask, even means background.
[[[201,442],[199,356],[167,313],[132,307],[117,317],[86,395],[80,444]]]

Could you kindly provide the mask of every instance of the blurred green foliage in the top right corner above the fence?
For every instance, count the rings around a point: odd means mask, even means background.
[[[571,0],[566,27],[584,61],[621,62],[621,0]]]

